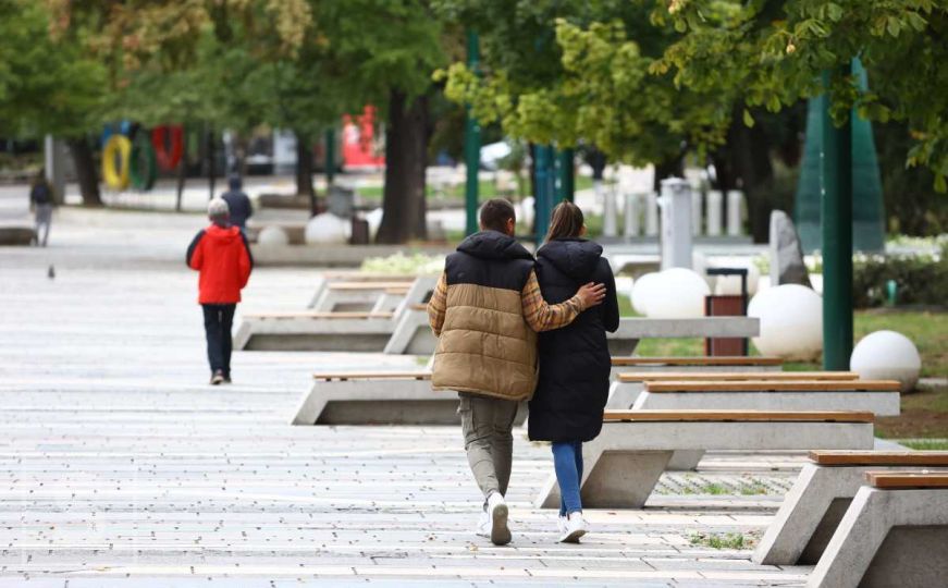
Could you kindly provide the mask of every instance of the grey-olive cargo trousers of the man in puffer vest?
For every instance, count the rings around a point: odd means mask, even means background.
[[[510,429],[517,416],[519,403],[459,392],[460,427],[464,432],[464,449],[475,480],[484,493],[507,493],[510,481],[510,460],[514,453],[514,436]]]

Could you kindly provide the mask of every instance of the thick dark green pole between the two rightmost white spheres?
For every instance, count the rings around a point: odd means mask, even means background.
[[[849,75],[846,65],[840,73]],[[829,72],[823,115],[823,368],[849,369],[852,353],[852,126],[851,113],[837,127],[829,118]]]

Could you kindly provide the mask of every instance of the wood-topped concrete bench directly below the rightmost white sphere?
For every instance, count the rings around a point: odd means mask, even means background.
[[[621,378],[626,376],[630,381],[636,379],[635,375],[625,373]],[[749,380],[748,376],[754,379]],[[863,411],[876,416],[898,416],[901,402],[899,382],[858,380],[859,375],[852,371],[711,373],[703,381],[663,380],[657,373],[648,377],[644,390],[637,393],[633,411]],[[613,385],[618,389],[616,395],[627,400],[632,393],[621,392],[626,384],[619,381]],[[668,469],[694,469],[703,456],[703,451],[677,452]]]

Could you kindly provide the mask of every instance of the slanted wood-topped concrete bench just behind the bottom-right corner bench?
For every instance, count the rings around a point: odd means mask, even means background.
[[[839,526],[866,471],[932,468],[948,473],[948,451],[811,451],[753,561],[815,564]]]

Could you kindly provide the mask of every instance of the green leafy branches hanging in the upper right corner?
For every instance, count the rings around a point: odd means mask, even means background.
[[[944,0],[658,0],[652,21],[681,36],[655,64],[681,87],[741,88],[749,106],[776,112],[824,91],[837,122],[852,108],[873,121],[902,120],[914,145],[909,164],[948,174],[948,2]],[[870,90],[845,73],[859,57]],[[751,120],[747,121],[751,123]]]

